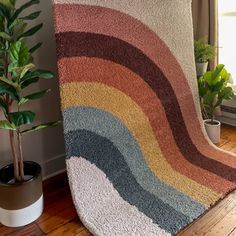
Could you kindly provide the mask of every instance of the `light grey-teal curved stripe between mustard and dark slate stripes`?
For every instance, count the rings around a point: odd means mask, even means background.
[[[154,176],[130,131],[111,113],[93,107],[76,107],[66,109],[63,116],[65,133],[84,129],[110,140],[124,156],[140,186],[164,203],[191,219],[207,209]]]

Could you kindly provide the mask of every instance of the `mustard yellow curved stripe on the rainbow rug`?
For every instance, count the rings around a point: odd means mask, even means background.
[[[221,197],[170,166],[159,148],[148,118],[126,94],[101,83],[80,82],[63,84],[61,97],[63,109],[73,106],[98,107],[122,120],[140,145],[151,171],[166,184],[207,206]]]

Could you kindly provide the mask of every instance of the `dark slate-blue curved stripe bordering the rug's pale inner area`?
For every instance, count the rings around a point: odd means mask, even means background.
[[[87,130],[77,130],[65,134],[65,140],[69,156],[83,157],[95,164],[125,201],[136,206],[162,229],[175,233],[191,222],[189,217],[144,190],[137,183],[122,154],[107,138]]]

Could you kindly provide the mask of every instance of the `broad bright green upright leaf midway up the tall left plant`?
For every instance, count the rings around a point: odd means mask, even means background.
[[[22,41],[12,43],[9,48],[9,57],[11,64],[9,66],[10,71],[14,67],[23,67],[29,63],[30,53],[26,44]]]

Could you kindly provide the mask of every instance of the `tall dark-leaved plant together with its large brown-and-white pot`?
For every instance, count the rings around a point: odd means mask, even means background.
[[[26,10],[39,0],[27,1],[18,8],[15,2],[0,0],[0,112],[4,117],[0,129],[9,132],[13,161],[0,169],[0,223],[10,227],[31,223],[43,209],[41,167],[23,160],[22,139],[31,132],[58,124],[32,126],[36,114],[24,108],[49,92],[49,89],[36,92],[25,89],[40,79],[53,78],[53,74],[36,69],[33,63],[32,55],[41,43],[29,48],[25,42],[43,26],[27,27],[27,22],[36,19],[40,11],[27,15]]]

